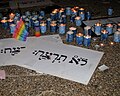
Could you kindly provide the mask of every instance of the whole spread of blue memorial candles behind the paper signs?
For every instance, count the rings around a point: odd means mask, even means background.
[[[75,27],[69,28],[69,31],[66,32],[67,22],[75,23],[75,25],[79,27],[82,25],[83,20],[89,20],[91,18],[90,12],[85,12],[84,8],[66,7],[54,9],[48,18],[45,17],[44,11],[39,11],[38,13],[27,11],[22,16],[20,16],[19,13],[11,13],[9,15],[9,20],[7,20],[7,17],[3,17],[3,20],[1,21],[3,28],[10,28],[11,33],[13,33],[20,18],[25,22],[25,27],[28,32],[31,27],[35,30],[36,37],[39,37],[41,33],[45,34],[50,30],[51,33],[58,32],[59,34],[66,34],[67,42],[72,42],[75,38],[78,45],[90,45],[92,33],[90,26],[86,26],[83,33],[77,33],[77,28]],[[119,29],[120,28],[118,28],[118,32],[114,33],[115,42],[120,42]],[[96,23],[94,26],[94,32],[101,35],[101,40],[106,40],[108,35],[113,33],[113,25],[108,24],[106,25],[106,29],[102,30],[102,25]]]

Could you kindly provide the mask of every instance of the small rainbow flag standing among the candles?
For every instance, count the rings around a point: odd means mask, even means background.
[[[13,33],[13,37],[17,40],[26,41],[27,36],[28,36],[28,32],[25,28],[25,23],[23,22],[23,20],[21,18],[17,24],[17,27],[16,27],[14,33]]]

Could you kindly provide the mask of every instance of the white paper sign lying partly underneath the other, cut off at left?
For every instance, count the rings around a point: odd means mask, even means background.
[[[21,51],[27,47],[32,46],[33,43],[40,40],[46,40],[47,42],[62,43],[62,40],[58,34],[47,35],[41,37],[28,37],[26,42],[15,40],[14,38],[0,39],[0,66],[6,65],[6,60],[15,58]],[[7,64],[10,65],[10,64]]]

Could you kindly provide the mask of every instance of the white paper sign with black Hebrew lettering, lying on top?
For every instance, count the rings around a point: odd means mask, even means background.
[[[46,40],[30,42],[31,46],[7,61],[27,68],[88,84],[103,53],[72,45],[56,44]]]

